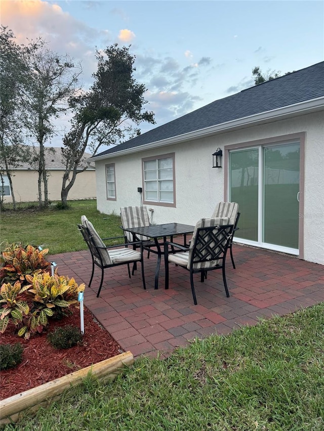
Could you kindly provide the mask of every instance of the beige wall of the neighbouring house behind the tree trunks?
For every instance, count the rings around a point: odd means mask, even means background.
[[[63,171],[50,170],[48,190],[50,201],[61,200]],[[16,202],[34,202],[38,200],[38,172],[34,170],[16,170],[12,172],[12,182]],[[43,195],[44,198],[44,195]],[[86,170],[76,175],[76,180],[69,191],[68,199],[95,199],[96,173]],[[12,202],[11,196],[5,196],[4,202]]]

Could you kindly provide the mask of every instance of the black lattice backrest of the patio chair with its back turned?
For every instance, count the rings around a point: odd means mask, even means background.
[[[197,221],[189,247],[188,269],[208,269],[221,264],[233,230],[233,224],[229,221],[229,217]]]

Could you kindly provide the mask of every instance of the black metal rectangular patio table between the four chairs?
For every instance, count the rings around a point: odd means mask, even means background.
[[[154,240],[156,251],[152,249],[145,248],[145,244],[143,244],[143,248],[145,250],[149,250],[152,253],[157,254],[157,262],[155,268],[155,279],[154,279],[154,289],[158,289],[158,274],[160,270],[161,263],[161,255],[164,254],[164,251],[161,250],[161,246],[167,241],[167,236],[171,237],[171,241],[173,241],[173,236],[175,235],[183,235],[184,236],[184,245],[186,245],[187,239],[186,235],[188,233],[192,233],[194,231],[194,226],[189,224],[182,223],[164,223],[164,224],[155,224],[150,226],[140,226],[140,227],[129,227],[125,228],[128,232],[133,234],[133,237],[136,238],[136,235],[144,235]],[[158,242],[158,238],[163,238],[163,243]]]

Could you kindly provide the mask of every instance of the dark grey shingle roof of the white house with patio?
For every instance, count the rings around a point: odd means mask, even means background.
[[[305,102],[315,101],[304,106]],[[263,118],[278,116],[278,110],[286,109],[285,114],[300,112],[306,109],[322,109],[324,106],[324,62],[306,67],[288,75],[280,76],[262,84],[240,91],[224,99],[216,100],[189,114],[179,117],[169,123],[149,130],[142,135],[130,139],[116,147],[97,154],[91,160],[105,158],[108,155],[121,155],[133,151],[140,151],[142,146],[168,139],[177,141],[177,137],[197,132],[201,136],[209,130],[219,126],[219,130],[226,128],[231,122],[238,124],[239,119],[246,119],[245,124],[252,122],[252,117],[269,113]],[[282,112],[283,113],[283,112]],[[250,119],[250,121],[249,121]],[[241,122],[242,124],[243,122]],[[198,133],[199,131],[199,133]],[[211,130],[212,131],[212,130]],[[185,136],[184,136],[185,137]]]

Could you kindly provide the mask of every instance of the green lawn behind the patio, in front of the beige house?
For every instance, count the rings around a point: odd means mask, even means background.
[[[84,214],[102,237],[123,235],[118,215],[101,214],[96,200],[69,201],[70,208],[56,206],[39,211],[36,208],[3,211],[1,214],[1,242],[21,242],[24,245],[42,245],[49,254],[85,250],[87,248],[77,223]]]

